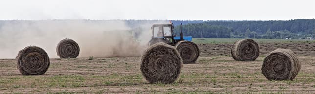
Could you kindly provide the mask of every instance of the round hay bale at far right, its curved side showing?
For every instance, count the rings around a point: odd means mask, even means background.
[[[301,62],[293,51],[276,49],[264,59],[261,71],[268,80],[293,80],[301,69]]]

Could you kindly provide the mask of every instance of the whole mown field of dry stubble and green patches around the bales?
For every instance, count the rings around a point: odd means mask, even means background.
[[[20,75],[14,59],[0,59],[0,94],[315,93],[315,44],[260,44],[262,56],[252,62],[234,61],[231,45],[200,44],[198,62],[184,64],[179,79],[166,85],[149,84],[142,77],[140,57],[51,59],[48,71],[39,76]],[[301,71],[293,81],[268,81],[260,69],[264,55],[282,47],[297,53]]]

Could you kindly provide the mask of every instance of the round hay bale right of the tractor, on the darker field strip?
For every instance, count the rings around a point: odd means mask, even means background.
[[[233,44],[231,54],[237,61],[254,61],[259,56],[259,46],[252,39],[242,39]]]

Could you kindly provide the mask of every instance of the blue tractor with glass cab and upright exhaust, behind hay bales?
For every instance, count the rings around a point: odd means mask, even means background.
[[[175,46],[177,42],[187,40],[191,41],[191,36],[184,37],[181,31],[182,25],[180,25],[180,37],[175,36],[173,23],[166,24],[154,24],[152,29],[152,39],[149,41],[149,45],[153,45],[158,42],[164,42]]]

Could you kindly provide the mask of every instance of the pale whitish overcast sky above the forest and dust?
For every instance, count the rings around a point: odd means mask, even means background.
[[[315,0],[0,0],[0,20],[314,18]]]

